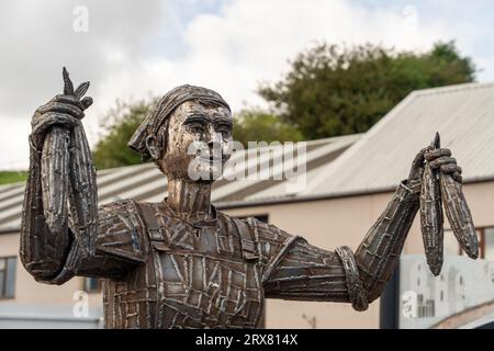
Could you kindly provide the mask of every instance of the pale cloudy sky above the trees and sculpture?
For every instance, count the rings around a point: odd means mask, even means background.
[[[85,21],[87,19],[87,22]],[[312,44],[378,43],[427,50],[456,39],[494,81],[490,0],[15,0],[0,2],[0,169],[27,165],[33,111],[61,92],[61,66],[90,80],[93,145],[116,99],[177,84],[217,90],[238,111]]]

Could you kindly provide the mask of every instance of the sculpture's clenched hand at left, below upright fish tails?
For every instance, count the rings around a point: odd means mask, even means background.
[[[91,104],[92,99],[89,97],[79,100],[79,98],[65,92],[37,107],[31,120],[31,143],[35,149],[42,149],[46,131],[52,126],[60,125],[72,128],[80,124],[80,120],[85,116],[85,110]]]

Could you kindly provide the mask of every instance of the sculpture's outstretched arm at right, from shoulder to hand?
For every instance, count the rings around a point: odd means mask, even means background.
[[[327,251],[302,238],[290,240],[284,234],[284,244],[279,244],[276,259],[267,264],[266,297],[349,302],[357,310],[367,309],[390,280],[418,211],[426,151],[417,155],[408,179],[398,185],[355,254],[346,246]],[[461,182],[461,169],[450,155],[447,149],[438,149],[429,152],[427,159],[431,167],[452,173]],[[276,229],[271,226],[270,231]]]

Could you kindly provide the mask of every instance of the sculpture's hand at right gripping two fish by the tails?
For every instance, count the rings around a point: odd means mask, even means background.
[[[451,157],[451,150],[447,148],[431,149],[430,147],[426,147],[415,156],[408,176],[407,185],[415,193],[420,193],[425,160],[429,162],[431,169],[439,169],[445,174],[451,174],[456,181],[461,183],[461,167]]]

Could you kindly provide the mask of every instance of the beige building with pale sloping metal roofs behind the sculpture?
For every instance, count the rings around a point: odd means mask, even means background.
[[[481,257],[485,260],[479,261],[479,264],[485,264],[490,260],[494,261],[494,213],[490,207],[494,199],[493,121],[494,84],[473,83],[415,91],[366,134],[314,140],[307,143],[306,152],[297,150],[306,158],[305,177],[297,178],[299,182],[278,178],[284,174],[283,169],[272,167],[269,168],[272,176],[270,180],[258,177],[218,181],[213,190],[213,202],[231,215],[260,217],[291,234],[304,236],[313,245],[326,249],[348,245],[355,249],[385,208],[400,181],[408,176],[416,152],[428,146],[435,133],[439,132],[442,146],[453,151],[463,168],[463,191],[479,230]],[[259,154],[255,158],[256,162],[247,163],[247,169],[262,168],[262,165],[272,163],[281,154],[285,156],[291,152],[290,149],[271,154],[262,154],[261,150],[266,148],[257,150],[255,152]],[[233,159],[242,160],[245,155],[246,152],[239,152]],[[234,173],[245,171],[245,165],[238,165],[240,167],[234,168]],[[98,183],[101,203],[125,197],[160,201],[166,191],[166,181],[151,165],[101,171],[98,174]],[[7,276],[3,279],[3,285],[9,286],[3,288],[3,296],[13,293],[12,298],[0,301],[0,320],[7,308],[10,310],[9,318],[12,319],[16,309],[27,308],[36,315],[36,308],[40,306],[65,308],[67,318],[74,317],[74,305],[80,303],[80,299],[74,299],[74,294],[85,288],[93,290],[97,284],[81,278],[72,279],[63,286],[37,284],[24,271],[19,260],[15,263],[22,192],[23,184],[0,188],[0,258],[11,258],[4,265],[7,269],[3,269]],[[445,225],[447,228],[448,223]],[[446,252],[460,254],[459,247],[448,230],[445,237]],[[404,253],[422,254],[423,251],[417,217],[405,244]],[[12,268],[12,264],[16,267]],[[1,267],[0,263],[0,273]],[[408,265],[404,265],[401,271],[405,272],[404,269],[408,269]],[[7,271],[15,272],[14,285],[12,273],[5,274]],[[479,279],[484,283],[484,278]],[[434,281],[430,281],[428,285],[433,284]],[[471,284],[475,284],[475,281]],[[494,281],[485,284],[489,290],[489,284],[494,284]],[[436,296],[437,288],[430,288],[433,292],[429,292],[430,296],[427,295],[427,298],[440,299],[440,296]],[[10,293],[7,294],[7,291]],[[470,291],[474,294],[471,286]],[[392,293],[393,298],[402,301],[405,296],[397,288]],[[447,293],[451,292],[444,292]],[[90,307],[100,306],[99,293],[90,293],[88,298]],[[447,297],[444,296],[441,302],[445,298]],[[486,298],[489,299],[489,296]],[[430,307],[434,304],[428,304],[417,301],[414,306],[425,306],[420,307],[424,316],[435,315],[434,308]],[[413,318],[417,318],[415,307],[411,309]],[[444,307],[442,310],[448,308]],[[269,299],[266,327],[378,328],[384,314],[385,308],[380,308],[379,301],[372,303],[367,312],[357,313],[347,304]],[[402,312],[394,310],[393,314],[397,320]],[[481,317],[484,318],[487,312]],[[23,320],[29,324],[29,317],[25,314],[23,316]],[[403,320],[400,325],[406,327]]]

